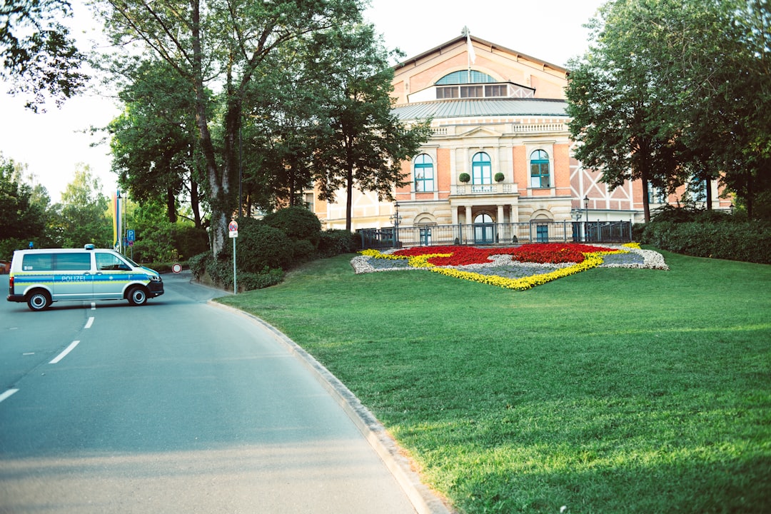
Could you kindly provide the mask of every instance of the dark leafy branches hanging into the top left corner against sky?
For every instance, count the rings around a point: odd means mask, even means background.
[[[69,0],[3,0],[0,3],[0,77],[13,93],[30,93],[26,106],[37,111],[48,93],[60,104],[85,85],[79,52],[63,18]]]

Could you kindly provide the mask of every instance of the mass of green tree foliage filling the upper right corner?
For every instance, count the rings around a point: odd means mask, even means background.
[[[769,23],[765,0],[605,3],[568,65],[577,160],[611,187],[641,179],[646,220],[648,183],[691,177],[719,177],[754,217],[771,191]]]

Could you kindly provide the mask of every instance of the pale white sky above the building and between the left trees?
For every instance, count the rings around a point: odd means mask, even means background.
[[[463,26],[481,39],[565,66],[587,48],[589,21],[606,0],[372,0],[365,18],[375,24],[389,49],[399,47],[406,57],[433,49],[460,35]],[[76,0],[75,3],[78,3]],[[74,23],[88,27],[83,39],[93,39],[93,22],[82,7]],[[106,126],[119,113],[115,102],[95,94],[71,99],[62,109],[34,114],[24,100],[8,96],[0,84],[0,153],[27,164],[35,183],[42,183],[52,202],[72,182],[76,165],[84,163],[99,176],[103,192],[116,189],[109,171],[109,146],[92,147],[96,137],[89,126]]]

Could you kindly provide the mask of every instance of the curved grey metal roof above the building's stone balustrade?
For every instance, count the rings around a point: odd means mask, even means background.
[[[567,116],[564,100],[534,98],[458,99],[406,103],[392,110],[399,119],[474,116]]]

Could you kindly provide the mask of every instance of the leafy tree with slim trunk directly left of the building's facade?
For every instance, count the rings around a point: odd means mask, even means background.
[[[341,25],[318,34],[320,82],[326,85],[318,119],[314,170],[321,198],[345,188],[345,228],[351,230],[353,190],[393,200],[409,183],[402,161],[429,139],[430,121],[406,126],[392,112],[393,69],[372,25]]]

